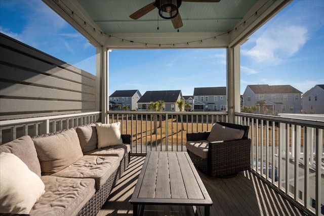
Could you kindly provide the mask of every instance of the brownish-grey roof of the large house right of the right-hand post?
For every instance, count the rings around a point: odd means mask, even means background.
[[[291,85],[248,85],[254,94],[302,94]]]

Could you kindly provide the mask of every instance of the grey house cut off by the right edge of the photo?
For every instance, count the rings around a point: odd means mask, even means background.
[[[315,85],[302,95],[304,113],[324,113],[324,84]]]

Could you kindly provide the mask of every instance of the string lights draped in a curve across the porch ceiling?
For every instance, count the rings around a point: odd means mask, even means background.
[[[57,4],[59,4],[59,2],[61,2],[63,5],[65,5],[62,1],[59,1],[59,0],[57,0],[57,1],[55,1]],[[266,3],[265,3],[266,4]],[[242,22],[241,24],[239,24],[237,27],[235,27],[234,29],[232,29],[232,30],[230,30],[230,31],[228,31],[228,32],[225,32],[225,33],[221,33],[221,34],[218,34],[218,35],[215,35],[215,36],[213,36],[213,37],[209,37],[209,38],[205,38],[205,39],[200,39],[200,40],[195,40],[195,41],[187,41],[187,42],[180,42],[180,43],[178,43],[178,44],[162,44],[162,45],[169,45],[169,46],[173,46],[173,47],[175,47],[176,45],[187,45],[187,46],[189,46],[189,43],[193,43],[193,42],[199,42],[199,44],[203,44],[203,41],[204,40],[208,40],[208,39],[211,39],[211,38],[213,38],[214,40],[217,40],[217,37],[219,37],[219,36],[222,36],[222,35],[224,35],[224,34],[226,34],[226,33],[231,33],[233,30],[235,31],[235,32],[237,32],[237,28],[239,27],[239,26],[246,26],[246,24],[247,24],[247,21],[250,19],[250,18],[252,18],[252,17],[258,17],[259,16],[259,14],[258,14],[258,11],[260,11],[261,9],[262,9],[262,7],[264,7],[265,6],[265,4],[264,5],[262,5],[254,14],[252,14],[250,17],[248,17],[244,22]],[[67,7],[66,5],[65,5],[65,7]],[[67,7],[68,8],[68,7]],[[70,10],[69,8],[68,8],[68,10]],[[68,13],[68,12],[66,12],[66,13]],[[138,42],[138,41],[133,41],[133,40],[127,40],[127,39],[124,39],[124,38],[119,38],[119,37],[116,37],[116,36],[112,36],[111,34],[107,34],[107,33],[105,33],[105,32],[102,32],[102,31],[99,31],[99,30],[97,30],[95,27],[93,27],[93,26],[91,26],[89,23],[87,23],[86,21],[84,21],[82,18],[80,18],[77,14],[75,14],[72,10],[70,10],[70,16],[74,19],[74,21],[76,21],[77,22],[77,20],[75,20],[75,17],[77,17],[80,21],[81,21],[81,23],[83,23],[83,26],[84,27],[87,27],[88,25],[90,26],[90,27],[92,27],[93,28],[93,31],[96,33],[97,31],[98,32],[100,32],[100,34],[103,36],[103,35],[109,35],[109,38],[111,38],[111,37],[113,37],[113,38],[116,38],[116,39],[120,39],[121,40],[121,42],[124,42],[124,41],[128,41],[128,42],[131,42],[131,43],[134,43],[134,42],[136,42],[137,44],[142,44],[142,45],[145,45],[146,47],[148,47],[148,45],[147,45],[147,43],[145,43],[145,42]],[[218,22],[218,21],[217,21]],[[157,25],[158,26],[158,25]],[[158,30],[159,28],[157,27],[157,30]],[[179,32],[179,29],[177,29],[177,32]],[[151,44],[151,45],[158,45],[158,47],[159,48],[161,48],[161,44]]]

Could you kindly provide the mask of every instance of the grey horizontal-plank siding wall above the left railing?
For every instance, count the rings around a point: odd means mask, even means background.
[[[0,34],[0,120],[99,111],[96,76]]]

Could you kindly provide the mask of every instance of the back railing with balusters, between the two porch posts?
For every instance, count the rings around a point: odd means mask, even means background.
[[[209,131],[216,121],[227,121],[227,112],[108,111],[108,119],[132,136],[132,153],[145,154],[186,151],[186,133]]]

